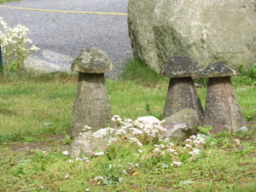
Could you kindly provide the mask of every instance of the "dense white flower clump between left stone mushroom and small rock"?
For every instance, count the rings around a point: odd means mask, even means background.
[[[166,131],[161,124],[163,121],[154,117],[138,118],[136,120],[120,119],[119,115],[114,115],[113,123],[115,128],[105,128],[96,132],[91,132],[89,126],[84,126],[83,134],[90,134],[93,137],[108,138],[108,145],[113,143],[137,143],[137,146],[143,147],[143,144],[153,144],[159,141],[160,136]]]

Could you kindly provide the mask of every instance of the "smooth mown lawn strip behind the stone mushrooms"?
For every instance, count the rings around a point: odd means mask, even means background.
[[[137,119],[149,114],[161,119],[169,79],[160,78],[148,67],[143,73],[143,64],[138,61],[129,62],[129,65],[128,73],[124,73],[122,79],[107,80],[113,114],[119,114],[123,119]],[[138,70],[131,69],[132,65],[133,68],[138,66]],[[25,136],[68,134],[77,75],[12,74],[0,77],[0,84],[0,142],[22,141]],[[207,88],[197,90],[204,106]],[[256,87],[236,85],[235,91],[244,117],[256,119]]]

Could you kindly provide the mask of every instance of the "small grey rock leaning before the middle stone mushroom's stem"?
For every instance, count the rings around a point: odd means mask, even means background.
[[[195,135],[199,125],[197,113],[192,108],[185,108],[164,120],[163,126],[166,132],[161,137],[172,138],[174,143],[182,143],[185,139]]]

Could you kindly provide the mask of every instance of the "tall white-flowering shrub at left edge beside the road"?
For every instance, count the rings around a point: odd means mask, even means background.
[[[27,55],[38,51],[38,47],[31,45],[32,40],[26,38],[27,31],[25,26],[17,25],[14,28],[7,26],[0,17],[0,40],[6,58],[5,72],[22,70],[22,63]]]

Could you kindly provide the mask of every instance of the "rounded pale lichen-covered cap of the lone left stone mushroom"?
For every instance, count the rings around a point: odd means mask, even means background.
[[[113,69],[113,64],[101,49],[91,48],[83,49],[74,58],[71,69],[81,73],[106,73]]]

